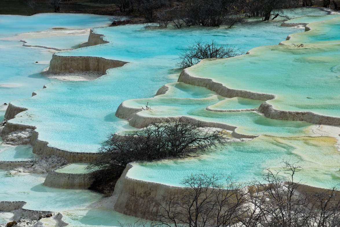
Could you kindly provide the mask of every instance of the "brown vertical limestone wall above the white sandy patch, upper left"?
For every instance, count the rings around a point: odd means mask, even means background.
[[[100,72],[106,74],[107,69],[117,68],[127,62],[91,56],[60,56],[53,54],[48,73]]]

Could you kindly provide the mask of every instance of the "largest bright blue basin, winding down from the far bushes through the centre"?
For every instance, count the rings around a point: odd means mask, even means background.
[[[297,15],[304,16],[306,12],[326,14],[316,8],[296,10]],[[177,80],[180,71],[174,70],[173,59],[188,42],[215,39],[218,43],[238,45],[245,52],[256,46],[276,45],[296,32],[295,28],[280,27],[281,22],[253,21],[233,29],[145,30],[143,25],[95,29],[95,33],[104,34],[104,39],[111,42],[57,55],[98,56],[130,63],[107,70],[107,75],[94,81],[49,84],[46,89],[36,91],[37,95],[31,99],[13,102],[29,108],[31,117],[20,114],[11,122],[36,126],[39,139],[48,141],[50,146],[74,152],[96,152],[108,133],[131,129],[126,121],[115,117],[121,102],[151,98],[159,87]]]

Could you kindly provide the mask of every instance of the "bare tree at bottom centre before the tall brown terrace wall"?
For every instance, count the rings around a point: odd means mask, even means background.
[[[230,176],[192,174],[182,185],[183,193],[159,203],[158,221],[165,226],[226,227],[244,212],[245,191]]]

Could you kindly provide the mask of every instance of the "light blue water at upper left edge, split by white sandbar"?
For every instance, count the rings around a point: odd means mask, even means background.
[[[84,29],[106,26],[108,22],[107,16],[90,14],[0,15],[0,105],[31,97],[32,91],[53,81],[40,73],[48,67],[52,58],[49,50],[23,47],[20,39],[8,37],[24,32],[56,31],[53,28]],[[88,35],[77,35],[32,39],[28,45],[69,49],[87,41],[87,38]],[[1,120],[3,115],[4,106],[0,106]]]

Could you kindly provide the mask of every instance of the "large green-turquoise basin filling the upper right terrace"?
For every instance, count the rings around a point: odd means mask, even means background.
[[[228,88],[274,94],[268,103],[276,109],[340,117],[340,17],[310,27],[284,42],[304,47],[259,47],[247,55],[205,60],[186,71]]]

